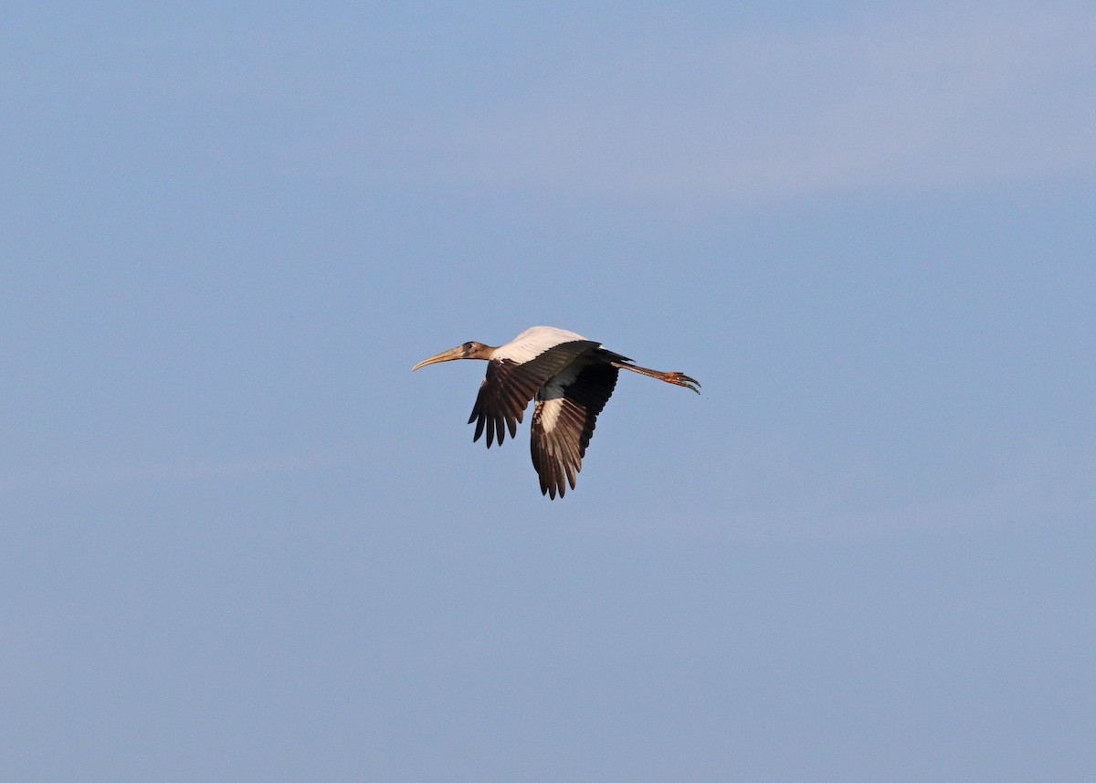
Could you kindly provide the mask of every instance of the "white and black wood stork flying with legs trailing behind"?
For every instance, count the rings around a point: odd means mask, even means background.
[[[614,353],[601,343],[581,334],[555,327],[526,329],[505,345],[493,348],[481,342],[466,342],[450,348],[411,367],[455,359],[484,359],[487,377],[480,384],[472,415],[480,439],[487,430],[487,445],[498,438],[517,436],[517,422],[525,415],[529,400],[536,398],[533,411],[533,467],[540,477],[540,493],[552,500],[563,497],[567,485],[582,469],[590,436],[594,433],[597,415],[602,412],[616,386],[618,371],[630,370],[667,384],[684,386],[697,394],[700,384],[684,373],[664,373],[639,367],[631,360]]]

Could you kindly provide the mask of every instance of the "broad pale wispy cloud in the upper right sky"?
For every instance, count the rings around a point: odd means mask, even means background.
[[[615,42],[400,141],[415,177],[751,201],[1096,171],[1096,13],[861,20]],[[423,168],[419,168],[419,166]],[[429,171],[430,173],[424,173]]]

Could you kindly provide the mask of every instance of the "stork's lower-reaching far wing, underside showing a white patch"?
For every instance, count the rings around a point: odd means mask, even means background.
[[[610,364],[590,364],[563,387],[563,396],[538,399],[533,411],[533,467],[540,477],[540,493],[563,497],[567,485],[582,469],[597,415],[616,387],[618,371]]]

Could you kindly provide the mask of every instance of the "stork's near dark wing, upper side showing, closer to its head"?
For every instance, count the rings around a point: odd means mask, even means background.
[[[505,440],[507,427],[510,436],[515,438],[517,422],[525,416],[529,400],[536,396],[545,382],[596,345],[597,343],[592,340],[574,340],[552,345],[527,362],[516,363],[510,359],[488,360],[487,377],[480,384],[472,415],[468,417],[469,424],[476,422],[476,435],[472,442],[480,439],[484,428],[488,449],[491,447],[494,438],[498,436],[500,444]]]

